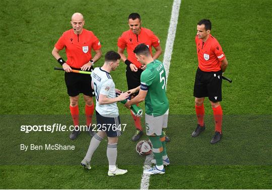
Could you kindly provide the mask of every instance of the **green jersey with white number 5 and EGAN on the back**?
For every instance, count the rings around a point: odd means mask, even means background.
[[[154,60],[147,65],[141,75],[141,90],[147,90],[145,99],[146,113],[160,116],[169,109],[169,101],[165,92],[166,76],[163,64]]]

